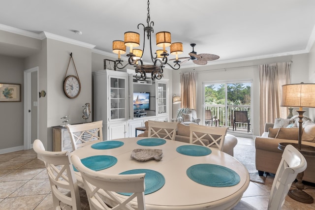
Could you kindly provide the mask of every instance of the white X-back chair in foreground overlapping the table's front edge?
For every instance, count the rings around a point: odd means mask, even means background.
[[[144,199],[145,173],[131,175],[104,174],[85,167],[80,158],[74,154],[71,155],[71,161],[81,173],[91,210],[146,209]],[[104,195],[103,192],[111,201],[106,202],[104,201],[106,198],[102,199],[100,197],[101,194]],[[131,193],[131,195],[125,200],[119,198],[116,192]],[[137,203],[132,205],[129,202],[134,198],[136,198]]]

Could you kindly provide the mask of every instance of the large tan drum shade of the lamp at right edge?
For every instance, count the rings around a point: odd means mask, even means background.
[[[281,106],[315,107],[315,84],[289,84],[282,86]]]

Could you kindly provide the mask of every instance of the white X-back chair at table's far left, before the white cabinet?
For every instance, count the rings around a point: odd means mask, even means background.
[[[103,120],[83,124],[66,125],[71,138],[72,150],[103,141]]]

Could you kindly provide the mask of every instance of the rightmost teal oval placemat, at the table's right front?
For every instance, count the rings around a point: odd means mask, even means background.
[[[197,164],[190,166],[186,174],[191,180],[212,187],[234,186],[241,180],[240,176],[235,171],[214,164]]]

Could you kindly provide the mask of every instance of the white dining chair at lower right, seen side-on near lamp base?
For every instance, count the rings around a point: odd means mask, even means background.
[[[299,173],[302,173],[307,168],[307,162],[304,156],[295,149],[292,145],[287,145],[282,154],[282,159],[276,172],[275,179],[272,183],[268,210],[282,210],[285,197]],[[241,210],[242,206],[248,205],[241,201],[233,210]],[[252,207],[251,209],[255,209]]]

